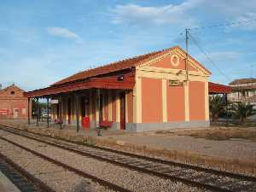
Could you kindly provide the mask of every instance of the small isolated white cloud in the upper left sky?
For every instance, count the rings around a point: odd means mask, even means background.
[[[59,38],[75,38],[79,39],[79,35],[75,32],[70,31],[64,27],[48,27],[46,28],[49,35],[59,37]]]

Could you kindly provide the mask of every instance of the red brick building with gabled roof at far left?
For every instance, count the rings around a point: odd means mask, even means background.
[[[28,101],[15,84],[0,90],[0,119],[27,119]]]

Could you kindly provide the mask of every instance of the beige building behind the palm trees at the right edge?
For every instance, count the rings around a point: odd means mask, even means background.
[[[232,93],[228,94],[230,102],[251,102],[256,104],[256,79],[236,79],[230,83]]]

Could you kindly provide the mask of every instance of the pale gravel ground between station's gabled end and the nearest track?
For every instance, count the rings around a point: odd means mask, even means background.
[[[256,161],[256,143],[245,139],[213,141],[189,136],[156,135],[154,133],[127,134],[111,136],[110,138],[151,147],[187,150],[212,156]]]

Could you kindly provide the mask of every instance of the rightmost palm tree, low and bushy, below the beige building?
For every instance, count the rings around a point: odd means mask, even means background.
[[[236,118],[241,120],[241,123],[244,123],[248,116],[255,113],[255,110],[249,102],[237,102],[232,105],[232,113],[235,114]]]

